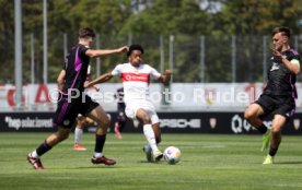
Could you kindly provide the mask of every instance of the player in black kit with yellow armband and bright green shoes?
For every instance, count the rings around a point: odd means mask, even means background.
[[[245,110],[245,119],[263,133],[263,147],[269,152],[263,164],[274,164],[281,143],[281,130],[295,111],[295,79],[300,73],[300,56],[289,45],[290,29],[281,26],[272,31],[272,48],[268,82],[260,97]],[[272,115],[268,129],[263,119]]]

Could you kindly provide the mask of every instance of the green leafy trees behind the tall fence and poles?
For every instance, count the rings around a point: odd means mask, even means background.
[[[0,0],[0,83],[13,82],[14,67],[14,1]],[[210,11],[207,4],[217,4]],[[141,7],[143,9],[136,9]],[[206,7],[205,7],[206,5]],[[43,70],[43,1],[22,1],[24,82],[30,82],[30,34],[35,35],[36,82]],[[93,27],[101,36],[101,47],[140,43],[148,54],[144,59],[159,68],[159,36],[164,37],[165,66],[169,63],[169,36],[175,36],[175,80],[198,82],[199,39],[206,36],[206,79],[208,82],[230,82],[231,35],[237,36],[237,81],[263,81],[260,68],[263,35],[272,27],[287,25],[301,34],[297,24],[302,19],[300,0],[48,0],[49,82],[55,82],[63,61],[62,34],[68,46],[77,40],[79,27]],[[73,37],[71,37],[73,36]],[[125,57],[102,59],[102,70],[109,70]],[[95,69],[95,68],[93,68]],[[190,72],[189,72],[190,71]],[[255,72],[254,72],[255,71]],[[178,74],[182,73],[182,74]],[[255,74],[256,73],[256,74]]]

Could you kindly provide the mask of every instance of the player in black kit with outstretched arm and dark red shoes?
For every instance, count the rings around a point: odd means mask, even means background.
[[[40,156],[51,147],[69,136],[71,128],[79,114],[88,116],[97,122],[95,131],[95,147],[91,158],[93,164],[114,165],[114,159],[106,158],[103,147],[106,141],[109,119],[104,109],[93,102],[84,92],[90,58],[101,57],[128,50],[127,46],[118,49],[91,49],[95,34],[93,29],[85,27],[79,31],[79,43],[71,48],[65,61],[65,84],[59,94],[58,107],[55,117],[57,132],[50,134],[36,150],[27,155],[27,161],[35,169],[44,169]]]

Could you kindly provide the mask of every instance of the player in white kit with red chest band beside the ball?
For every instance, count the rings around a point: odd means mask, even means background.
[[[160,120],[155,108],[149,98],[150,79],[158,79],[162,83],[167,83],[172,71],[166,70],[164,74],[159,73],[154,68],[142,62],[143,48],[140,45],[131,45],[127,52],[127,63],[115,67],[112,72],[98,76],[90,82],[85,87],[108,81],[113,76],[119,75],[124,86],[124,99],[126,104],[125,112],[128,118],[139,119],[143,124],[143,134],[149,143],[152,153],[144,147],[148,161],[160,161],[163,153],[158,144],[161,142]]]

